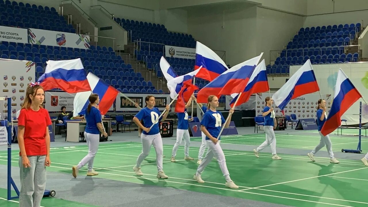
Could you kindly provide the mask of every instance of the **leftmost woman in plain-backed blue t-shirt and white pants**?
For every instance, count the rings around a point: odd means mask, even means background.
[[[107,137],[107,133],[103,130],[102,126],[101,112],[98,109],[100,99],[97,94],[91,94],[88,99],[89,104],[85,116],[87,124],[84,130],[84,137],[86,138],[88,146],[88,154],[79,162],[78,165],[72,167],[74,178],[77,178],[79,169],[87,163],[87,175],[98,175],[98,172],[93,170],[93,159],[96,156],[98,145],[100,143],[100,132],[103,136]]]

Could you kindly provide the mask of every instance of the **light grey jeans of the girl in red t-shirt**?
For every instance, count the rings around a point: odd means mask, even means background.
[[[28,156],[30,167],[25,168],[19,157],[21,191],[19,207],[40,207],[46,187],[46,155]]]

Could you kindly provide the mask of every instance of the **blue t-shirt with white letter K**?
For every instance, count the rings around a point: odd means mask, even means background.
[[[209,134],[211,134],[212,137],[215,137],[218,140],[220,140],[220,137],[217,136],[219,136],[220,134],[221,126],[223,123],[225,123],[225,119],[222,116],[221,112],[219,111],[213,112],[212,110],[208,110],[203,116],[201,121],[201,125],[206,127]],[[210,138],[206,136],[206,140],[209,139]]]

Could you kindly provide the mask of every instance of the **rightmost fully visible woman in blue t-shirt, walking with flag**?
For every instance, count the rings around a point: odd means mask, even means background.
[[[330,155],[330,162],[331,163],[339,163],[339,161],[334,157],[332,152],[332,143],[330,140],[330,137],[328,135],[323,136],[321,133],[321,129],[323,124],[325,124],[325,121],[327,119],[326,114],[326,101],[319,99],[318,100],[318,106],[316,106],[317,110],[317,125],[318,125],[318,133],[321,136],[321,140],[319,141],[319,144],[312,150],[311,153],[308,153],[308,157],[311,158],[311,160],[314,162],[314,154],[316,154],[319,150],[321,150],[322,147],[326,145],[328,155]]]

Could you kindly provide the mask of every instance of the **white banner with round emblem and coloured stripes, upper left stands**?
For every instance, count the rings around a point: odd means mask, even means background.
[[[34,45],[50,45],[80,49],[90,48],[89,35],[33,28],[28,29],[28,42]]]

